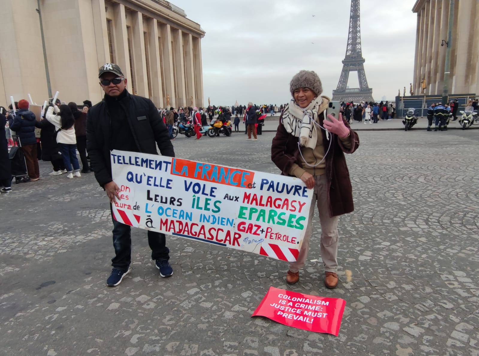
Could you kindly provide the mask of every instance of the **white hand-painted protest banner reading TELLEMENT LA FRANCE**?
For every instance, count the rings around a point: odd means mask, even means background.
[[[296,261],[313,190],[297,178],[113,150],[114,219],[230,249]]]

